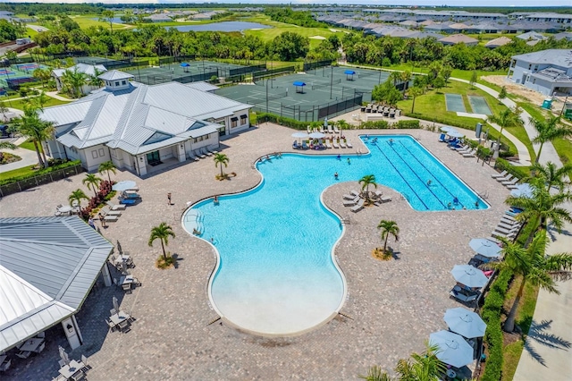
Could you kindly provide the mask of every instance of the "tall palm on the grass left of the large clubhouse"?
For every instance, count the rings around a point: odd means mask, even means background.
[[[10,128],[29,137],[29,140],[34,144],[36,154],[38,154],[39,165],[47,168],[46,153],[40,147],[43,141],[50,139],[54,134],[54,125],[39,118],[37,105],[24,105],[23,109],[24,114],[14,118],[10,123]]]

